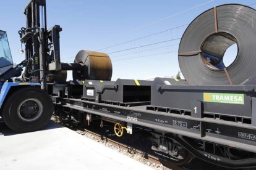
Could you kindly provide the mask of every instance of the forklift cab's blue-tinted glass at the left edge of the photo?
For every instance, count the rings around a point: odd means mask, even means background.
[[[13,67],[6,31],[0,30],[0,75]]]

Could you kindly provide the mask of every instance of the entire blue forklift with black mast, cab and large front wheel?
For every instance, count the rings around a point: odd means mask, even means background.
[[[12,62],[6,31],[0,31],[0,117],[15,132],[37,131],[53,114],[46,82],[61,72],[59,26],[46,27],[46,1],[31,0],[24,10],[26,26],[19,31],[25,60]],[[56,57],[57,56],[57,57]],[[57,68],[58,67],[58,68]]]

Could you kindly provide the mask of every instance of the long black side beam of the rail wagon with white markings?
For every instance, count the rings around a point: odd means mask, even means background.
[[[219,121],[210,118],[150,111],[141,107],[119,107],[104,103],[88,102],[80,99],[58,98],[58,105],[95,115],[134,123],[152,129],[172,132],[194,139],[205,140],[220,145],[233,146],[256,153],[256,128],[249,124]],[[140,108],[140,109],[138,109]],[[201,124],[204,126],[201,126]],[[202,133],[203,131],[203,133]],[[204,134],[202,136],[202,134]],[[249,134],[246,136],[246,134]]]

